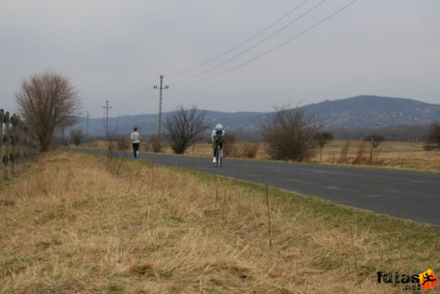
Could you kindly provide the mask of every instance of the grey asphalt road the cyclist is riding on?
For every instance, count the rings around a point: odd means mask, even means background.
[[[104,155],[96,149],[75,149]],[[129,159],[133,158],[127,153]],[[141,154],[140,161],[217,173],[254,183],[318,196],[336,203],[440,226],[440,174],[345,168],[303,163],[225,158],[221,168],[212,159]]]

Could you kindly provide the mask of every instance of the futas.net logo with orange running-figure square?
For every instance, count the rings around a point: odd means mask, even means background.
[[[418,275],[407,275],[401,274],[398,271],[395,273],[382,273],[382,271],[377,272],[377,283],[381,284],[401,284],[404,290],[415,291],[415,290],[429,290],[433,286],[439,284],[439,280],[435,276],[432,269],[423,271]]]

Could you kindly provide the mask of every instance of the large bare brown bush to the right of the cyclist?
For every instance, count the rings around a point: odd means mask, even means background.
[[[303,109],[274,107],[275,112],[261,122],[267,153],[276,160],[304,161],[316,154],[314,139],[319,126]]]

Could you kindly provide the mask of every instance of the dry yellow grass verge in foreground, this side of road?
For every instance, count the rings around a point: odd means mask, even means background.
[[[260,185],[146,163],[49,152],[0,195],[0,293],[401,293],[377,271],[440,272],[439,227],[272,188],[268,210]]]

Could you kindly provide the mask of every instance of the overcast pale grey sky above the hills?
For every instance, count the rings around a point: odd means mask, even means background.
[[[361,94],[440,103],[440,1],[358,0],[331,16],[351,2],[0,0],[0,108],[13,112],[21,80],[47,70],[92,117],[105,100],[110,116],[156,113],[160,75],[164,111]]]

